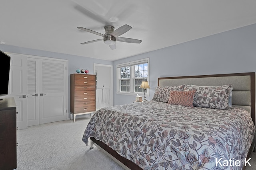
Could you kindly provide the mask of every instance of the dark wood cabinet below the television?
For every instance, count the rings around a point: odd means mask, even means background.
[[[3,98],[0,100],[0,170],[16,168],[16,104],[14,98]]]

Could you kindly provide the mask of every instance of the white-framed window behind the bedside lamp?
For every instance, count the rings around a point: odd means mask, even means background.
[[[149,59],[117,64],[117,92],[132,95],[144,94],[144,89],[139,87],[142,81],[149,81],[148,65]]]

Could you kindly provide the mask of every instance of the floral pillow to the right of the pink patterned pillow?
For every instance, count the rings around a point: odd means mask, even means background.
[[[184,91],[196,90],[193,106],[214,109],[228,109],[232,85],[195,86],[185,85]]]

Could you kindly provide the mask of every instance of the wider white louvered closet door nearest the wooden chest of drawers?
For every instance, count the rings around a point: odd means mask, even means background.
[[[39,123],[66,120],[66,62],[39,60]]]

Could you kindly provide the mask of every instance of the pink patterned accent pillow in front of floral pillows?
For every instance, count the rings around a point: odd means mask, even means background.
[[[171,91],[168,104],[193,107],[195,92],[196,92],[195,90],[186,91],[186,92]]]

